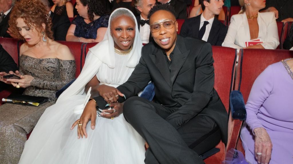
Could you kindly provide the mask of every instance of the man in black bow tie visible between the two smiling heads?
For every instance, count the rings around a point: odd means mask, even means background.
[[[136,20],[143,44],[149,43],[149,41],[153,40],[151,37],[151,30],[149,29],[149,19],[147,18],[147,15],[155,4],[156,0],[134,0],[134,6],[137,13],[140,13],[140,15],[136,17]]]

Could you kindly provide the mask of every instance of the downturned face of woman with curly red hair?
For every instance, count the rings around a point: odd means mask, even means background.
[[[16,22],[19,34],[29,45],[35,45],[41,41],[41,34],[35,29],[35,26],[28,27],[23,18],[17,18]]]

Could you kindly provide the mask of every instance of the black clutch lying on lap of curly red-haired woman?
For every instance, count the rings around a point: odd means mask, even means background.
[[[29,96],[29,95],[19,95],[19,94],[11,94],[9,95],[5,102],[20,104],[20,105],[28,105],[38,107],[40,104],[43,104],[48,101],[48,97],[41,96]]]

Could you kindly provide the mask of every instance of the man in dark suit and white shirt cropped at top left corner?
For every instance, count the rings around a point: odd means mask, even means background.
[[[11,38],[7,33],[8,30],[8,20],[10,17],[10,11],[15,3],[15,0],[0,0],[0,37]]]

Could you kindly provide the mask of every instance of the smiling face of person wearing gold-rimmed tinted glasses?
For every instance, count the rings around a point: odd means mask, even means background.
[[[167,53],[170,54],[174,47],[177,39],[178,22],[176,22],[175,16],[169,11],[159,10],[151,15],[149,18],[149,24],[154,25],[156,23],[161,23],[166,20],[173,20],[174,27],[166,29],[161,25],[160,30],[157,32],[151,32],[154,41]]]

